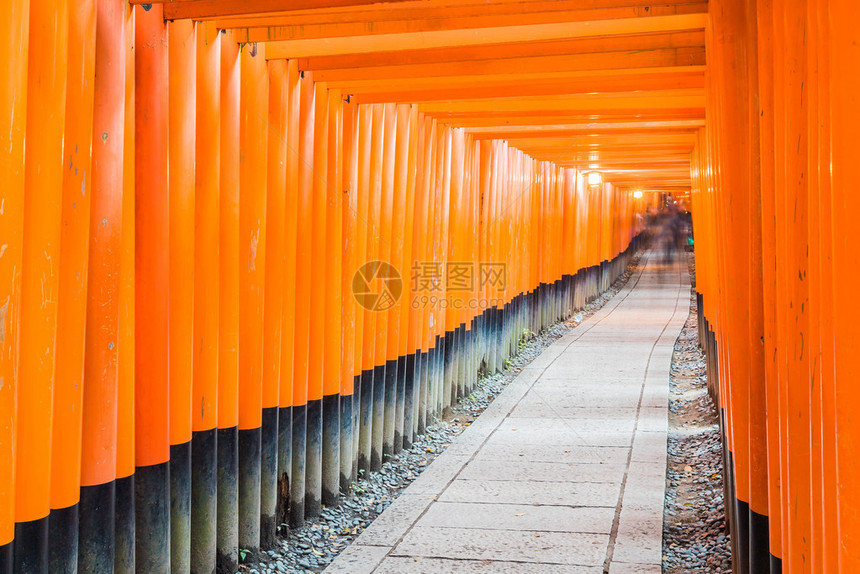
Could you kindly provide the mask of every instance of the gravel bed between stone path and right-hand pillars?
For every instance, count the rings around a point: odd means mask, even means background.
[[[691,277],[695,262],[688,255]],[[723,506],[719,415],[708,395],[699,348],[695,290],[675,342],[669,377],[669,459],[663,511],[663,572],[730,573],[731,548]]]

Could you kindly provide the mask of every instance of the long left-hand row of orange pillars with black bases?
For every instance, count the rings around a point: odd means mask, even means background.
[[[235,572],[606,289],[654,200],[86,5],[0,18],[0,572]]]

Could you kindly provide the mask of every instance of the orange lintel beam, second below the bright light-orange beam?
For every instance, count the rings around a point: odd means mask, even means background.
[[[270,52],[266,52],[267,55]],[[435,64],[375,66],[322,70],[319,81],[338,82],[359,79],[421,78],[451,75],[505,74],[511,70],[530,72],[571,72],[575,70],[611,70],[658,66],[701,66],[705,64],[703,47],[661,48],[638,52],[601,52],[565,56],[537,56],[442,62]]]

